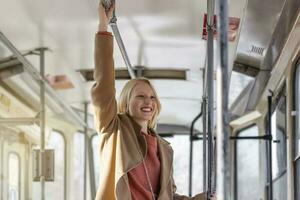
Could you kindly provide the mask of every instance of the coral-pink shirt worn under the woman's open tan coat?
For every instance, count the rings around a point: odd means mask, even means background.
[[[157,138],[150,134],[142,133],[147,142],[147,155],[145,166],[154,194],[157,196],[160,189],[160,160],[157,147]],[[132,200],[152,200],[151,190],[143,163],[128,172],[129,187]]]

